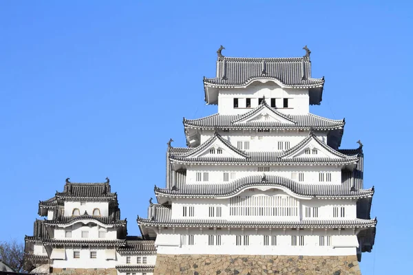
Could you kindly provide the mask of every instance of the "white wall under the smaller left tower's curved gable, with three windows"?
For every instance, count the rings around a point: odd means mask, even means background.
[[[91,222],[91,221],[78,221],[77,223],[74,223],[73,225],[69,225],[65,228],[59,227],[54,230],[54,239],[75,239],[75,240],[81,240],[85,239],[82,238],[82,231],[87,231],[89,232],[89,237],[87,240],[99,240],[99,239],[105,239],[105,240],[116,240],[116,228],[114,227],[102,227],[100,225],[95,225],[92,227],[89,227],[85,225],[83,222]],[[94,221],[92,221],[94,222]],[[65,236],[65,231],[66,230],[71,230],[72,231],[72,237],[71,238],[66,238]],[[99,231],[105,231],[105,238],[99,238]]]

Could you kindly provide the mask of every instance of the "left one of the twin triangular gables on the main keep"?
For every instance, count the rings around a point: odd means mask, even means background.
[[[203,144],[200,144],[200,146],[193,148],[193,150],[188,153],[180,155],[179,157],[235,157],[245,159],[248,155],[246,155],[244,151],[235,148],[227,140],[224,140],[219,133],[215,132],[209,140]]]

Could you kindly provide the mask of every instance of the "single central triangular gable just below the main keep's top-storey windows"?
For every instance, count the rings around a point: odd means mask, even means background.
[[[232,121],[233,124],[244,124],[251,122],[273,122],[291,125],[297,123],[288,115],[284,115],[284,113],[280,113],[279,111],[269,107],[265,100],[262,100],[262,104],[260,104],[260,106]]]

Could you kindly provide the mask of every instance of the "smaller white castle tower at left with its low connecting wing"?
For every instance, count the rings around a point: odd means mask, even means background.
[[[75,184],[39,202],[33,236],[25,236],[25,270],[36,274],[150,275],[153,241],[127,236],[118,195],[104,183]]]

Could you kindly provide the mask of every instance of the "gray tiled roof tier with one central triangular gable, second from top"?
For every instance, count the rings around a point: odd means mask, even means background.
[[[189,128],[200,128],[200,129],[315,129],[315,130],[329,130],[329,129],[339,129],[346,124],[344,120],[330,120],[328,118],[323,118],[319,115],[314,115],[313,113],[308,113],[307,115],[285,115],[280,113],[277,109],[269,107],[268,104],[263,100],[264,103],[260,106],[255,107],[248,113],[243,115],[220,115],[215,113],[209,115],[205,118],[198,118],[196,120],[187,120],[184,118],[184,126]],[[268,109],[269,111],[275,113],[280,118],[288,120],[293,123],[282,123],[282,122],[239,122],[248,117],[255,115],[255,113],[261,111],[262,109]]]

